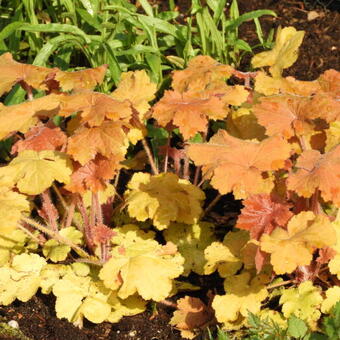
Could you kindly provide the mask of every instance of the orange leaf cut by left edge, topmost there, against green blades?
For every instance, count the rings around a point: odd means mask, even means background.
[[[44,80],[54,71],[55,69],[18,63],[10,53],[5,53],[0,56],[0,96],[20,81],[35,89],[46,90]]]

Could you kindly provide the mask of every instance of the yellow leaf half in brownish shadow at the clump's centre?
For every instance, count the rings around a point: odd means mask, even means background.
[[[173,173],[151,176],[139,172],[128,188],[125,197],[129,215],[138,221],[150,218],[159,230],[170,222],[196,223],[202,212],[203,191]]]

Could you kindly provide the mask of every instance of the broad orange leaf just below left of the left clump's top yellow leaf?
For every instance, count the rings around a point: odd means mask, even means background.
[[[62,97],[59,114],[68,117],[75,112],[81,112],[81,121],[90,126],[101,125],[105,118],[128,120],[132,116],[128,101],[120,102],[106,94],[91,91]]]

